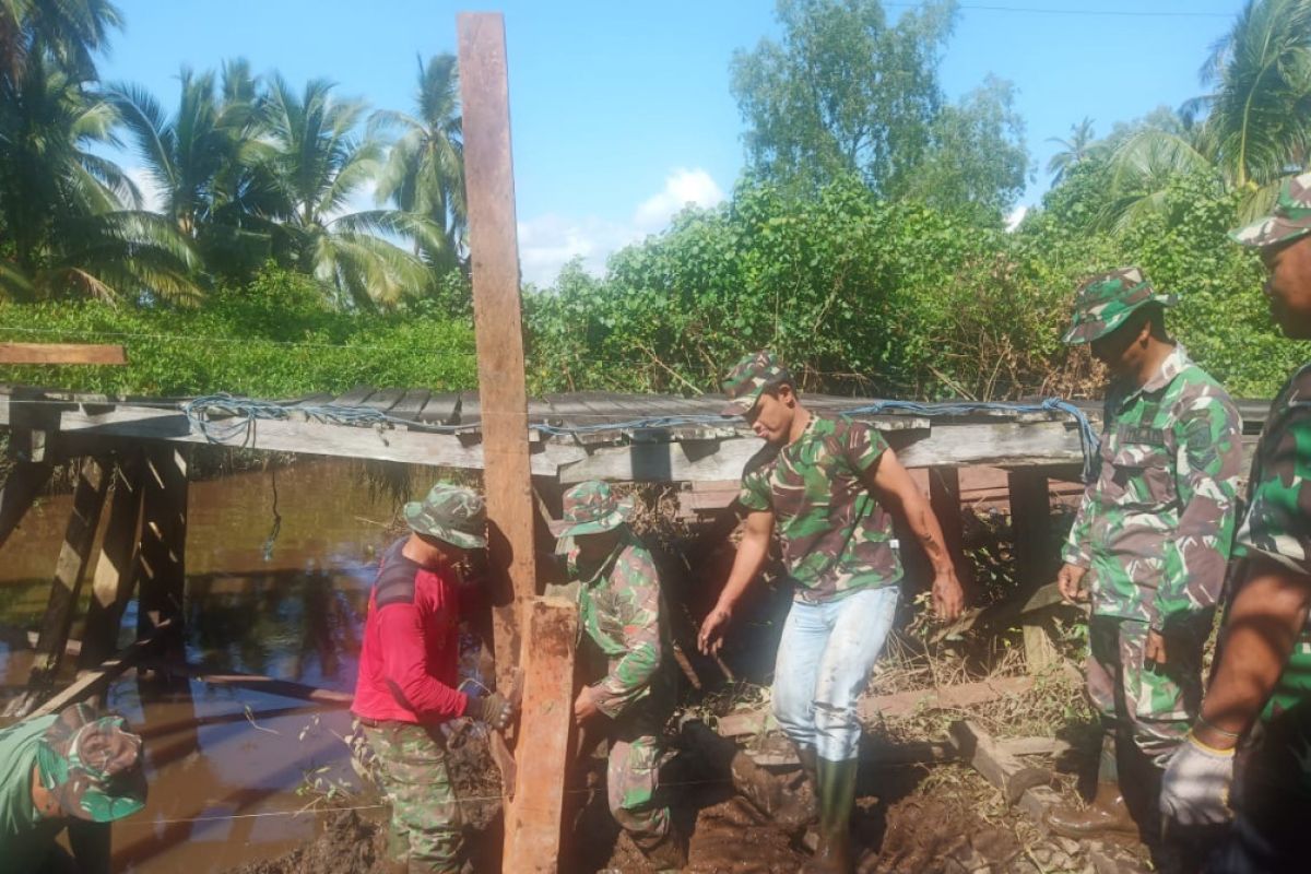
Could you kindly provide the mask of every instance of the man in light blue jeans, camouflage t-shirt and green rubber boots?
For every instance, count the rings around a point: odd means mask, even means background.
[[[805,870],[850,873],[856,700],[891,628],[902,578],[890,514],[932,563],[939,617],[960,616],[965,598],[937,519],[877,431],[806,410],[792,376],[766,351],[738,362],[724,392],[724,414],[746,417],[766,447],[742,476],[742,542],[699,643],[703,651],[720,649],[777,524],[796,598],[779,641],[773,713],[802,767],[815,776],[819,795],[819,844]]]

